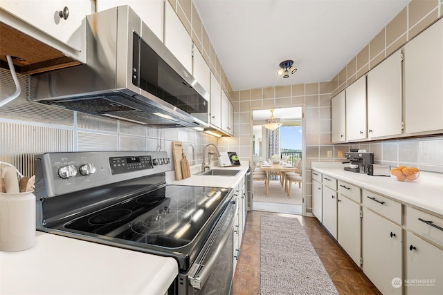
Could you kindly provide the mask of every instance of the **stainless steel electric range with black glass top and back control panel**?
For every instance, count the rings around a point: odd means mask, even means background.
[[[230,294],[237,197],[166,184],[171,168],[158,151],[37,155],[37,229],[173,257],[179,276],[170,294]]]

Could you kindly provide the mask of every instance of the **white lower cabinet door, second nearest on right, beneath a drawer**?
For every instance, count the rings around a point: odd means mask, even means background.
[[[401,227],[363,208],[362,231],[363,272],[381,293],[402,294]]]

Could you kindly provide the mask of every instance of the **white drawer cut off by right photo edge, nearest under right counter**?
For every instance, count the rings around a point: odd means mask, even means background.
[[[443,247],[443,219],[415,208],[406,209],[406,226],[415,234]]]

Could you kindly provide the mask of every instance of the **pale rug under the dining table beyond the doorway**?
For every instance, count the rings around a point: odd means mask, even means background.
[[[253,200],[257,202],[274,202],[282,204],[302,204],[302,189],[298,184],[292,184],[291,198],[281,186],[279,180],[271,180],[269,182],[269,196],[266,197],[266,189],[264,181],[253,181]]]

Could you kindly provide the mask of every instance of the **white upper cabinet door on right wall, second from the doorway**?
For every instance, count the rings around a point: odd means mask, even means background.
[[[346,88],[346,140],[366,138],[366,76]]]

